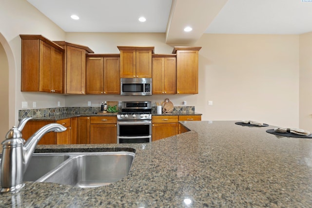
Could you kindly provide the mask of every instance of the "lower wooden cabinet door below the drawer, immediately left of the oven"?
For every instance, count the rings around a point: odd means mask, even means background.
[[[116,144],[116,124],[91,124],[90,144]]]

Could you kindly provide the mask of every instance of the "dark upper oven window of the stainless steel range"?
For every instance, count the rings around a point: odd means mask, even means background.
[[[148,136],[150,125],[119,125],[119,136]]]

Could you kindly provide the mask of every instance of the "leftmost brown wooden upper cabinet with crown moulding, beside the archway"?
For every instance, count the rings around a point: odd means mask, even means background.
[[[41,35],[20,35],[21,91],[63,93],[64,49]]]

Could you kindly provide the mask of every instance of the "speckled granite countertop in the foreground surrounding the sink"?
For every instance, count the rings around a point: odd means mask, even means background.
[[[124,179],[82,189],[31,183],[1,207],[311,207],[312,139],[276,136],[235,121],[186,121],[190,132],[151,144],[39,145],[134,148]],[[186,204],[189,203],[189,204]]]

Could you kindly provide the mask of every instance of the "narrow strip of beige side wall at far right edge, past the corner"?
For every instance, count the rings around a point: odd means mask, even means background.
[[[312,131],[312,33],[300,35],[299,43],[299,125],[302,129]]]

